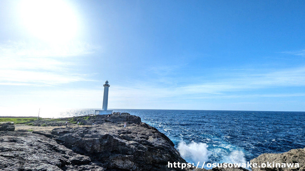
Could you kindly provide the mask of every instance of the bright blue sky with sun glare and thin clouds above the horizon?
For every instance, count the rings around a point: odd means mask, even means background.
[[[0,0],[0,115],[305,111],[304,1]]]

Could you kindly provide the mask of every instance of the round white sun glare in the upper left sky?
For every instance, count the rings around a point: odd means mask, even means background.
[[[20,12],[30,34],[40,39],[62,42],[72,39],[77,34],[77,17],[64,1],[22,1]]]

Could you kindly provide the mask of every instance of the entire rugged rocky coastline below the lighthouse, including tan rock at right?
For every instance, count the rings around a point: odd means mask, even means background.
[[[66,127],[63,123],[69,121]],[[77,122],[81,125],[77,126]],[[127,127],[124,128],[124,123]],[[174,143],[156,128],[128,113],[38,120],[35,126],[59,126],[43,131],[16,130],[0,124],[0,170],[169,171],[168,162],[186,163]],[[92,124],[94,123],[94,125]],[[251,162],[299,163],[299,168],[252,168],[253,171],[305,170],[305,148],[282,154],[262,154]],[[193,169],[196,171],[206,169]],[[246,170],[244,168],[213,168]]]

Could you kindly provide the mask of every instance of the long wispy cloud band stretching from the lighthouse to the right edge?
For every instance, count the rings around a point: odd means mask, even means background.
[[[164,86],[157,80],[152,82],[134,81],[124,86],[111,88],[111,101],[127,101],[130,104],[173,102],[195,99],[245,99],[258,97],[303,97],[303,92],[290,92],[294,87],[305,86],[305,67],[288,68],[260,74],[244,73],[212,81],[189,82]],[[162,80],[161,80],[162,81]],[[135,86],[136,85],[136,86]],[[180,86],[181,85],[181,86]],[[274,88],[284,88],[278,93],[270,93]],[[269,93],[264,93],[269,92]]]

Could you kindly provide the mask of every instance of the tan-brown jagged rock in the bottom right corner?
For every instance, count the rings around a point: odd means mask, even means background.
[[[304,149],[292,149],[288,152],[284,152],[281,154],[261,154],[257,158],[254,158],[250,160],[251,163],[257,163],[258,166],[261,166],[262,163],[265,163],[267,165],[267,162],[272,163],[271,168],[252,168],[253,171],[262,171],[262,170],[268,170],[268,171],[292,171],[292,170],[305,170],[305,148]],[[273,167],[274,163],[299,163],[299,168],[295,167]],[[276,166],[274,164],[274,166]]]

